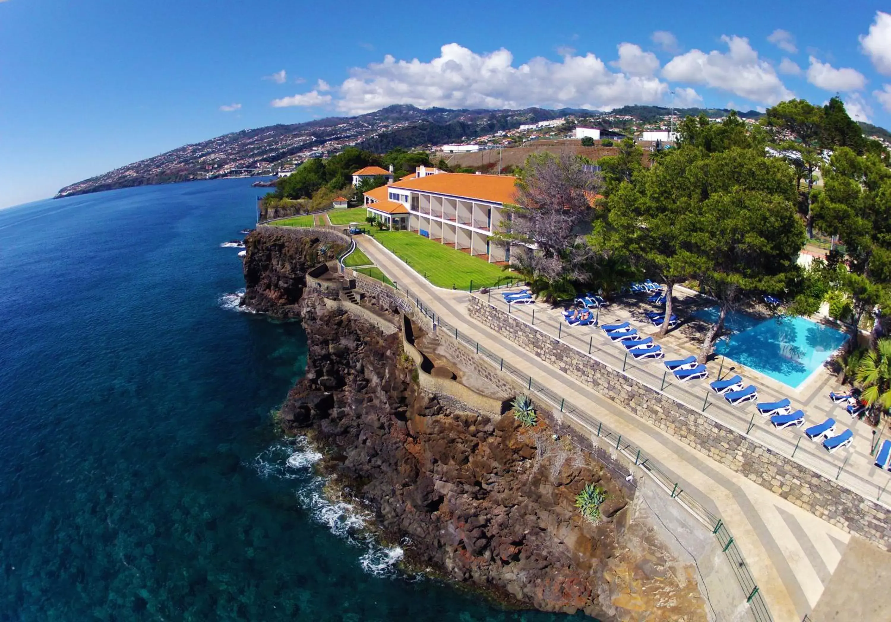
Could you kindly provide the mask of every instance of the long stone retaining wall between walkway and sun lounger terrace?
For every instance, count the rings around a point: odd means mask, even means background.
[[[813,515],[891,551],[891,513],[786,456],[470,296],[470,317],[677,440]],[[459,361],[461,362],[461,361]]]

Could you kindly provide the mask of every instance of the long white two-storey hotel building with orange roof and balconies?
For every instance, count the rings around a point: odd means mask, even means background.
[[[399,182],[365,192],[368,215],[390,229],[415,231],[489,263],[510,263],[511,245],[492,238],[514,202],[509,175],[443,173],[421,166]]]

